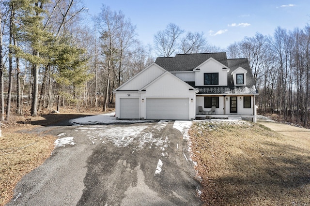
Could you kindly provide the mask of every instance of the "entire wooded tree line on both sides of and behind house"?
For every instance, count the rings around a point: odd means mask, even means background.
[[[25,105],[32,116],[72,103],[106,110],[112,91],[155,57],[223,51],[173,23],[155,33],[153,45],[142,45],[121,11],[102,5],[90,18],[82,0],[0,0],[0,22],[1,120],[27,113]],[[309,45],[306,26],[228,46],[229,58],[250,62],[259,112],[309,125]]]

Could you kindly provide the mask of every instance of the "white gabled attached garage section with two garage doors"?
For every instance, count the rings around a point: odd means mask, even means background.
[[[197,92],[197,89],[152,63],[113,91],[115,118],[195,119]]]

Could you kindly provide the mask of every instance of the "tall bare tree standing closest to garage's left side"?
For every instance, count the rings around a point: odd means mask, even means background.
[[[129,19],[125,19],[121,11],[113,12],[106,5],[102,6],[101,13],[96,18],[96,23],[101,35],[102,57],[105,59],[106,90],[103,110],[106,111],[111,100],[111,91],[122,82],[124,56],[137,43],[135,39],[136,27],[131,24]]]

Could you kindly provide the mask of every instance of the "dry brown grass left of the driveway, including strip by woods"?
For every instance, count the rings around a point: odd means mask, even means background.
[[[75,108],[68,108],[62,110],[61,114],[41,114],[37,117],[12,115],[9,121],[4,122],[0,137],[0,206],[13,197],[16,183],[41,165],[54,149],[56,137],[27,131],[38,126],[100,113],[102,112],[77,113]]]

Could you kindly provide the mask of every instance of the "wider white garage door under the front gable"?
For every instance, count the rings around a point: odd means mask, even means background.
[[[146,98],[146,118],[188,120],[188,98]]]

